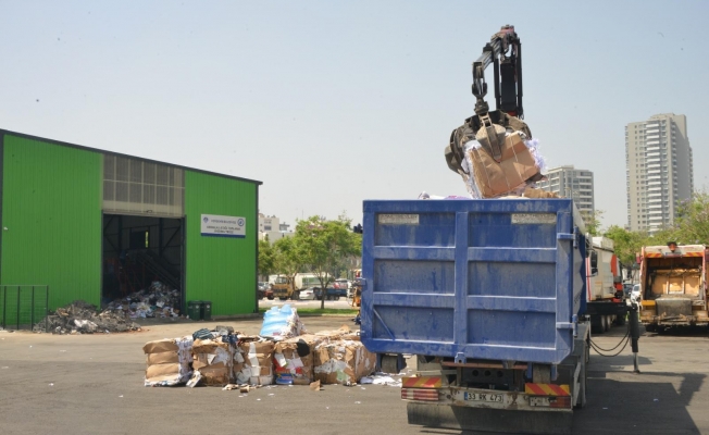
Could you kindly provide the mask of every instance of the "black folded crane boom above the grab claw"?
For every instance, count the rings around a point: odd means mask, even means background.
[[[477,98],[475,113],[485,115],[489,111],[484,100],[487,95],[485,69],[495,67],[496,109],[511,116],[524,117],[522,109],[522,44],[514,26],[502,26],[483,48],[483,54],[473,63],[473,95]]]

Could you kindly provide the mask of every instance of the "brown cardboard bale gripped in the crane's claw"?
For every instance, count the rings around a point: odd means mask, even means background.
[[[514,190],[539,173],[534,157],[519,133],[505,138],[499,162],[483,148],[468,152],[473,163],[473,176],[483,198],[494,198]]]

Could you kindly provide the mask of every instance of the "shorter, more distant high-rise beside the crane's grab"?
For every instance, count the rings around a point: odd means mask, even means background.
[[[552,167],[545,174],[546,181],[537,183],[539,188],[559,194],[563,198],[573,198],[576,208],[586,222],[594,217],[594,173],[577,170],[573,165]]]

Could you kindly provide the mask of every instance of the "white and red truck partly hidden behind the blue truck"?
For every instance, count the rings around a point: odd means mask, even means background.
[[[607,237],[586,237],[589,243],[586,269],[586,313],[594,334],[624,325],[626,297],[623,291],[622,268],[613,251],[613,240]]]

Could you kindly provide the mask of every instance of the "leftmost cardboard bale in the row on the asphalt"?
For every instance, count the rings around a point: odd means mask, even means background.
[[[147,362],[145,385],[156,387],[186,383],[192,374],[189,366],[191,349],[190,336],[146,343],[142,347]]]

